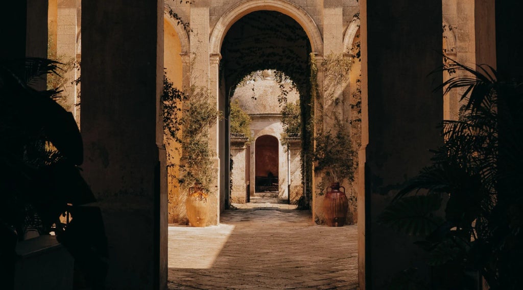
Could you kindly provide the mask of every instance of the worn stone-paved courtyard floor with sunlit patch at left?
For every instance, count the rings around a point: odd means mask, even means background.
[[[220,222],[169,226],[169,289],[356,289],[356,225],[313,225],[308,211],[276,205]]]

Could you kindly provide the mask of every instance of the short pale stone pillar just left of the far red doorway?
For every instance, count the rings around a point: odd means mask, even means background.
[[[247,202],[247,180],[245,180],[245,171],[248,170],[245,162],[247,140],[247,137],[231,137],[231,158],[234,162],[231,176],[231,202],[233,203]]]

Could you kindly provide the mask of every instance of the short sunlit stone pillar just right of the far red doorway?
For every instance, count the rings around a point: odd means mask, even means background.
[[[301,139],[289,139],[289,166],[290,166],[290,192],[289,200],[291,203],[297,203],[303,196],[303,185],[301,184]]]

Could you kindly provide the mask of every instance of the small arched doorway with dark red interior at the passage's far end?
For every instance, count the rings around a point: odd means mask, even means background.
[[[278,191],[278,139],[264,135],[255,142],[256,192]]]

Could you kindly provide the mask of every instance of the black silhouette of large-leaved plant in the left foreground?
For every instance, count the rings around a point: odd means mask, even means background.
[[[0,64],[0,265],[14,272],[17,241],[36,226],[40,235],[54,232],[87,283],[101,288],[107,241],[100,210],[88,206],[96,199],[79,173],[82,137],[73,115],[56,103],[58,90],[30,87],[58,75],[59,65],[43,58]],[[65,212],[73,216],[67,225],[59,221]]]

